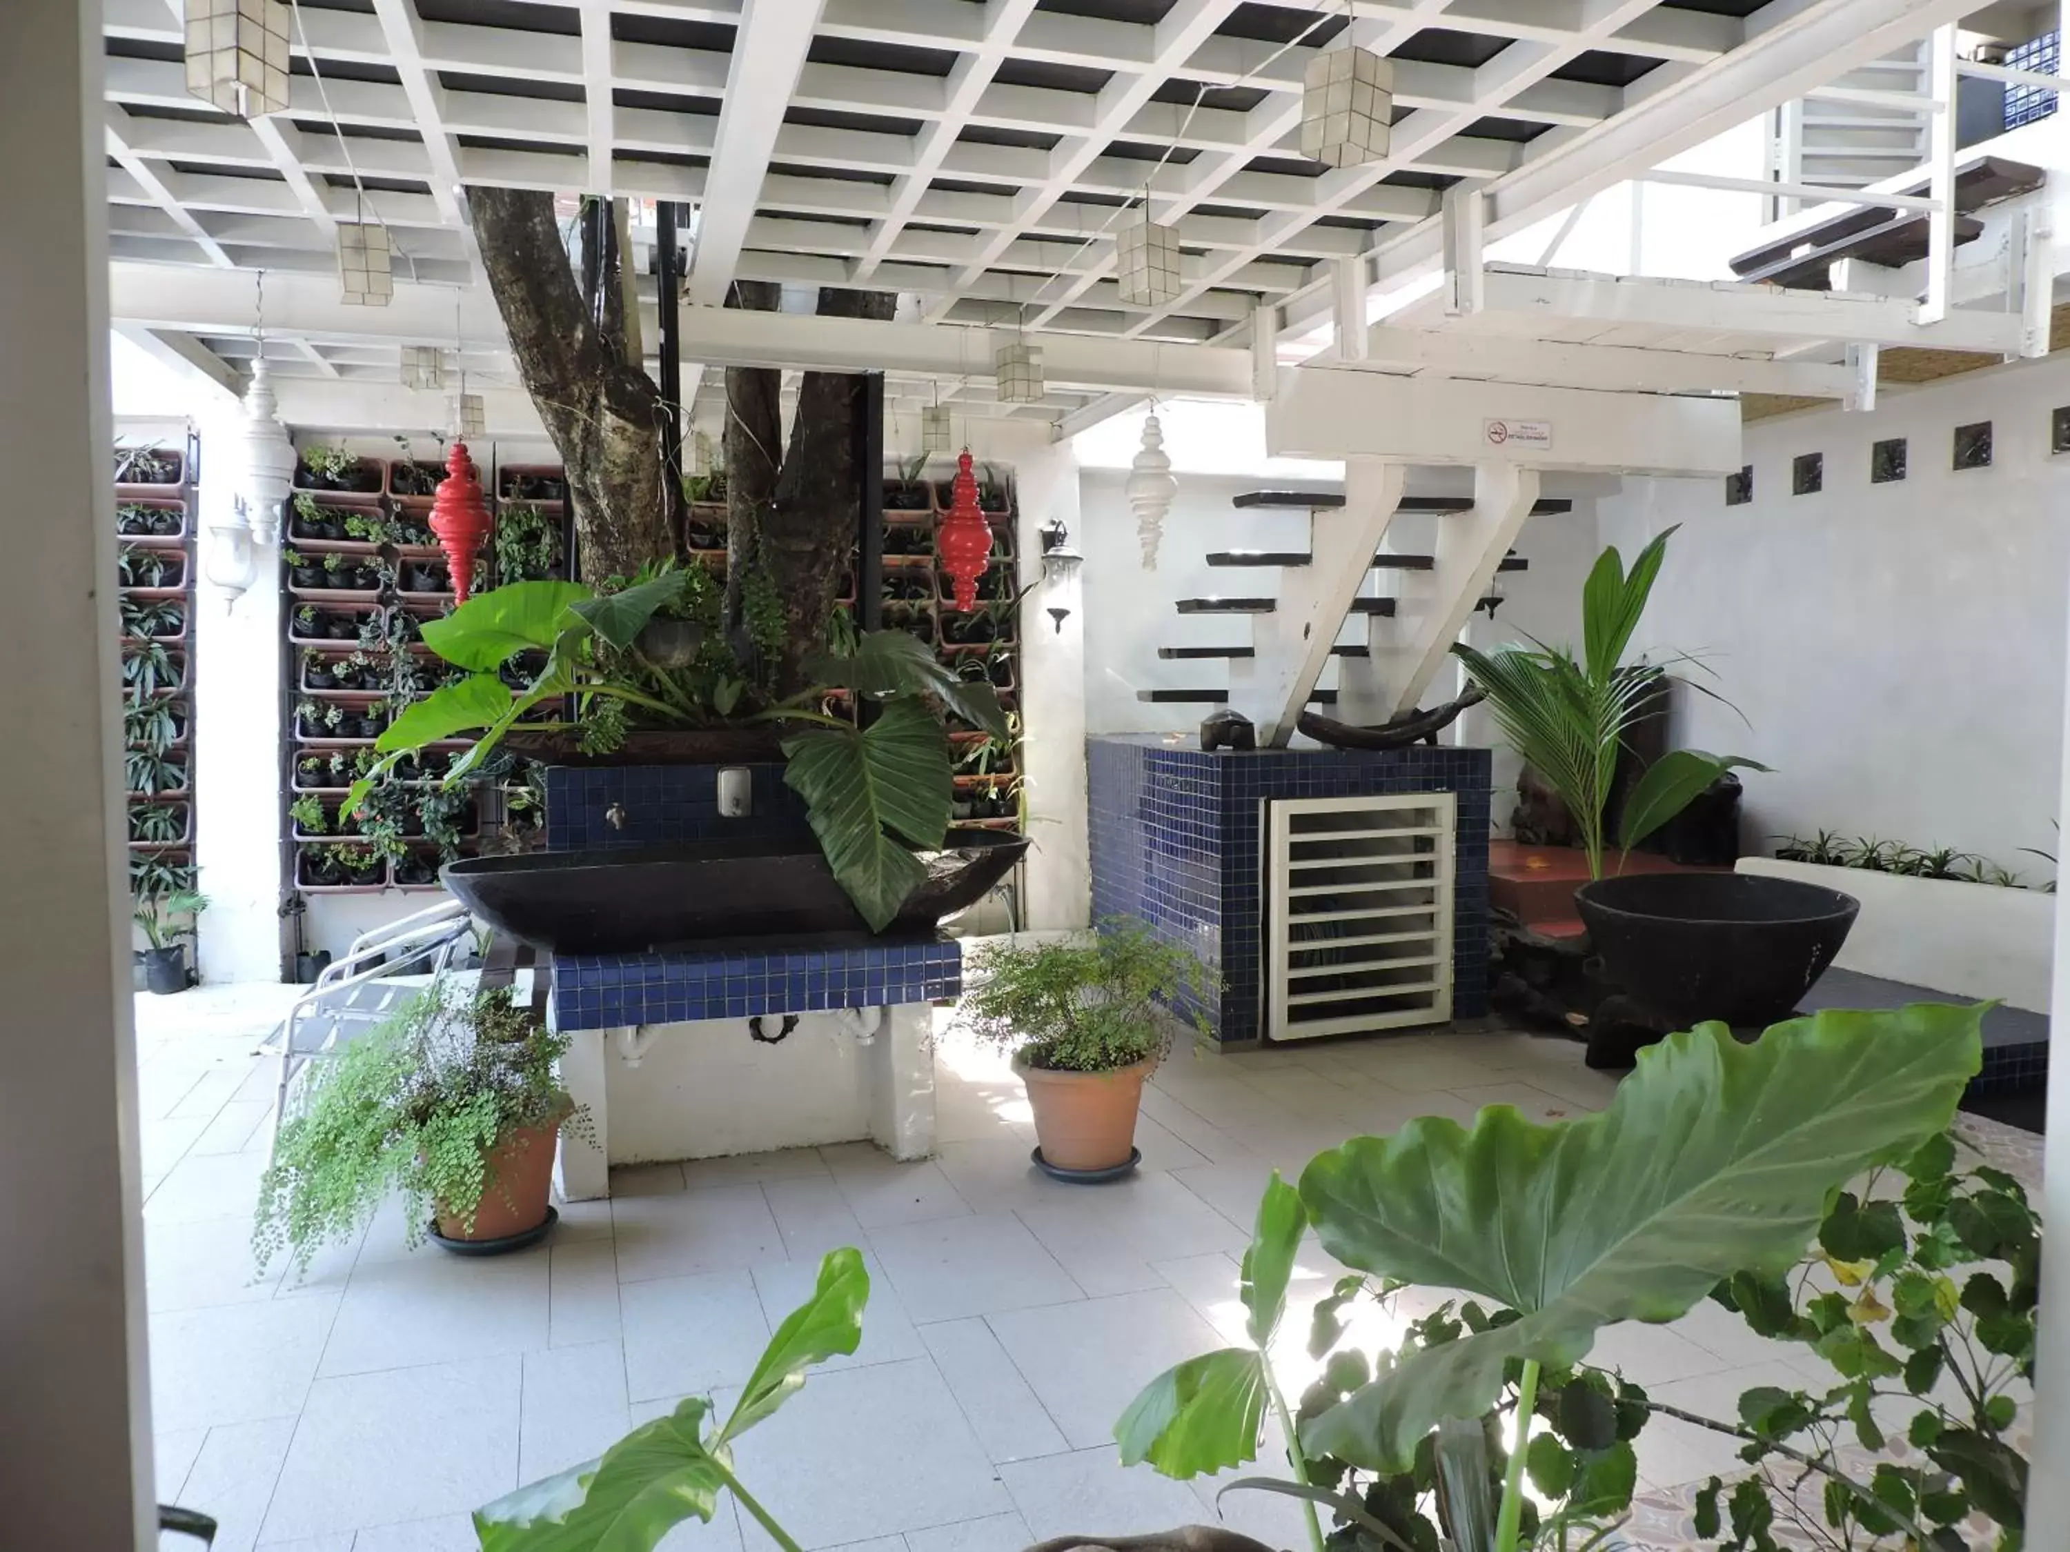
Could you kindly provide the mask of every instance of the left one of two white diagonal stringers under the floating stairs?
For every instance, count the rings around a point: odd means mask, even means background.
[[[1346,459],[1343,507],[1310,513],[1308,565],[1283,571],[1277,608],[1252,617],[1256,656],[1230,664],[1230,704],[1256,724],[1261,747],[1283,749],[1294,737],[1294,722],[1401,505],[1406,472],[1399,459]]]

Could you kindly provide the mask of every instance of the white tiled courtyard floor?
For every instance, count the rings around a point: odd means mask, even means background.
[[[1010,1552],[1211,1521],[1213,1484],[1124,1471],[1112,1426],[1159,1370],[1240,1335],[1238,1256],[1269,1171],[1418,1113],[1571,1115],[1613,1093],[1577,1045],[1528,1035],[1180,1051],[1145,1095],[1143,1169],[1076,1188],[1029,1165],[1004,1062],[946,1043],[931,1163],[851,1144],[650,1165],[621,1171],[609,1204],[563,1206],[540,1252],[412,1254],[383,1213],[308,1279],[275,1266],[253,1281],[273,1088],[253,1045],[288,991],[141,999],[159,1496],[217,1515],[224,1552],[472,1548],[472,1506],[745,1378],[840,1244],[869,1256],[863,1347],[739,1453],[805,1548]],[[1296,1297],[1335,1273],[1310,1246]],[[1306,1318],[1288,1331],[1298,1393]],[[1791,1382],[1778,1366],[1795,1355],[1699,1308],[1610,1333],[1596,1357],[1728,1415],[1741,1389]],[[1673,1486],[1726,1465],[1731,1442],[1656,1424],[1639,1453],[1646,1480]],[[1298,1544],[1290,1502],[1236,1494],[1228,1511]],[[667,1546],[768,1540],[722,1504]]]

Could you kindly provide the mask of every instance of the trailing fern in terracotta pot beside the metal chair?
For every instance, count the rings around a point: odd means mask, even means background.
[[[555,1080],[567,1039],[509,987],[437,979],[317,1062],[259,1182],[253,1254],[306,1269],[402,1192],[410,1244],[462,1254],[536,1244],[555,1221],[555,1138],[588,1113]]]

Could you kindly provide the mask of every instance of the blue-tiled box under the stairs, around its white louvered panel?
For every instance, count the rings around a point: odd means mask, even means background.
[[[1217,1039],[1261,1035],[1259,803],[1279,797],[1455,793],[1453,1016],[1488,1010],[1486,749],[1418,745],[1203,753],[1163,735],[1087,741],[1093,915],[1141,917],[1223,981],[1211,1006],[1192,1006]]]

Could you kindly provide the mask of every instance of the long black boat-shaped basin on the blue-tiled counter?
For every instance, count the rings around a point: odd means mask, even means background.
[[[950,830],[878,937],[931,933],[1006,877],[1027,836]],[[753,937],[871,937],[811,836],[464,857],[439,877],[476,917],[559,954],[646,954]],[[791,946],[787,942],[787,946]]]

